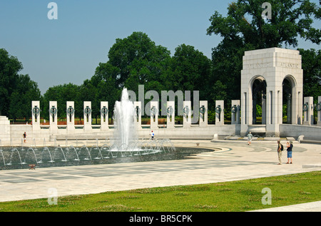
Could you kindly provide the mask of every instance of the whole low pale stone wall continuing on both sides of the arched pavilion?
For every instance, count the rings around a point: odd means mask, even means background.
[[[43,143],[56,140],[104,140],[112,139],[115,128],[107,131],[101,131],[97,126],[93,126],[91,132],[84,132],[78,128],[68,131],[66,128],[56,130],[54,133],[47,126],[41,126],[40,130],[33,130],[32,125],[9,125],[9,120],[2,120],[0,139],[2,145],[9,142],[19,144],[23,138],[23,133],[27,134],[27,143],[31,145],[35,139],[36,143]],[[4,128],[4,129],[2,129]],[[190,128],[183,128],[177,125],[175,128],[157,128],[154,129],[155,138],[169,139],[198,139],[212,140],[214,136],[225,137],[230,135],[240,135],[240,124],[236,125],[207,125],[200,127],[191,125]],[[138,129],[138,138],[150,138],[151,129]],[[315,125],[280,125],[280,137],[293,137],[297,139],[300,135],[304,135],[304,140],[321,140],[321,127]]]

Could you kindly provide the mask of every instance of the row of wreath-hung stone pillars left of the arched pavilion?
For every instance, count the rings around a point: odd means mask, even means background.
[[[135,123],[141,128],[141,102],[135,101]],[[75,130],[75,106],[73,101],[66,102],[66,128]],[[240,123],[240,101],[232,101],[232,124]],[[158,101],[151,101],[151,129],[158,128]],[[175,101],[168,101],[166,106],[167,128],[175,128]],[[216,124],[224,125],[224,101],[216,101]],[[195,117],[195,116],[193,116]],[[50,130],[54,133],[58,130],[57,101],[49,102]],[[191,101],[183,102],[183,128],[189,128],[192,124]],[[40,130],[40,102],[32,101],[32,125],[34,130]],[[208,125],[208,101],[200,101],[199,126]],[[78,125],[82,126],[82,125]],[[108,101],[101,102],[101,130],[108,130]],[[91,101],[83,102],[83,130],[92,130],[91,125]]]

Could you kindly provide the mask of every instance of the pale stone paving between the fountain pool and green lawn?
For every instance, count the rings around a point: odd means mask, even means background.
[[[293,164],[277,165],[277,141],[253,140],[172,140],[175,147],[213,149],[183,160],[142,163],[82,165],[36,170],[1,170],[0,202],[47,198],[49,188],[58,196],[106,191],[195,185],[232,180],[265,178],[321,169],[321,145],[293,142]],[[282,140],[281,143],[285,143]],[[50,145],[50,143],[49,143]],[[53,143],[51,145],[54,145]],[[321,202],[264,211],[320,211]]]

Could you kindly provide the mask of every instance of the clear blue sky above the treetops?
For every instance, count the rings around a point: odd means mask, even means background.
[[[42,94],[91,78],[98,63],[108,61],[116,38],[133,31],[146,33],[172,54],[185,43],[210,58],[220,42],[219,36],[206,35],[210,16],[214,11],[225,16],[232,0],[56,0],[58,19],[49,20],[51,1],[0,2],[0,48],[21,61],[21,73],[28,73]],[[320,48],[305,41],[299,47]]]

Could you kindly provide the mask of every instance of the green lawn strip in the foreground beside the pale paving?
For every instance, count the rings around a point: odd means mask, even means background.
[[[263,205],[270,188],[272,205]],[[1,202],[0,211],[242,212],[321,200],[321,171],[204,185],[145,188],[95,195]]]

